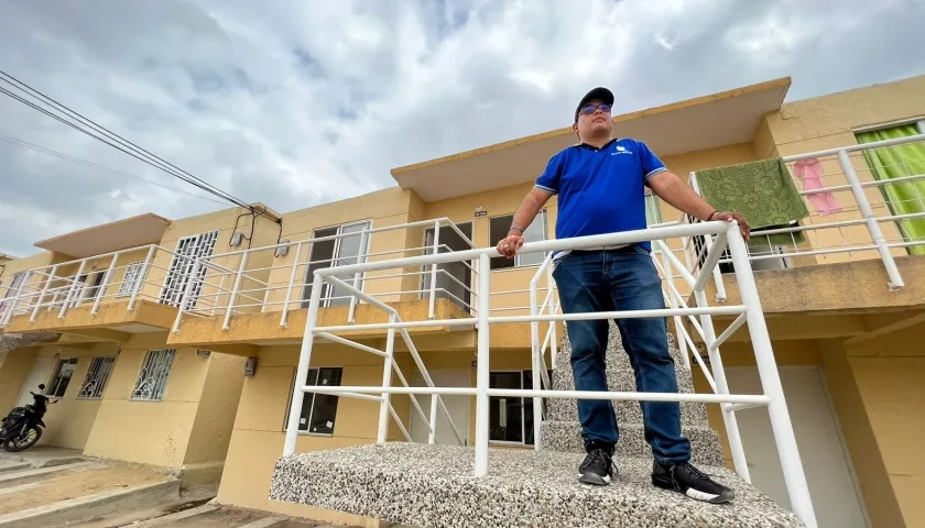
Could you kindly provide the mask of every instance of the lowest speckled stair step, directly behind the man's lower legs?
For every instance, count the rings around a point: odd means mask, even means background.
[[[690,457],[695,464],[722,465],[722,444],[719,436],[709,427],[686,426],[684,436],[690,440]],[[652,448],[645,441],[642,424],[620,424],[620,441],[617,455],[652,458]],[[584,453],[581,425],[578,421],[544,421],[543,449]]]

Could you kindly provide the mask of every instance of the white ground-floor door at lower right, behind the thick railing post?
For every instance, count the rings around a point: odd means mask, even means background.
[[[855,486],[848,452],[818,369],[783,367],[781,383],[787,398],[799,459],[819,528],[867,528],[860,492]],[[761,394],[757,369],[727,369],[729,392]],[[771,420],[763,407],[736,413],[752,484],[790,509]]]

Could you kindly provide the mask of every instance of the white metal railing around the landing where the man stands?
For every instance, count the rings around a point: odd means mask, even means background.
[[[768,334],[768,328],[764,322],[764,316],[761,308],[761,301],[758,295],[758,289],[754,283],[751,267],[749,266],[748,252],[746,243],[739,233],[738,227],[726,222],[701,222],[697,224],[686,226],[668,226],[655,229],[648,229],[642,231],[632,231],[623,233],[612,233],[605,235],[585,237],[578,239],[551,240],[544,242],[534,242],[524,244],[520,252],[535,253],[544,251],[562,251],[574,250],[580,248],[594,248],[600,245],[617,245],[627,243],[638,243],[642,241],[655,240],[664,241],[673,238],[690,238],[703,237],[709,234],[712,238],[712,245],[709,248],[704,265],[694,275],[687,270],[682,272],[685,280],[690,285],[695,292],[695,301],[697,306],[673,306],[666,309],[651,309],[651,310],[630,310],[630,311],[606,311],[606,312],[589,312],[589,314],[541,314],[538,309],[532,310],[527,316],[492,316],[489,309],[489,293],[491,292],[492,274],[479,273],[477,298],[478,306],[475,317],[446,320],[416,320],[403,321],[401,320],[398,310],[373,296],[363,293],[362,290],[348,285],[336,275],[368,273],[391,268],[403,268],[414,266],[429,266],[434,264],[461,262],[478,260],[478,270],[485,271],[490,267],[490,258],[498,256],[498,252],[491,248],[475,249],[461,252],[432,254],[424,256],[395,258],[391,261],[369,262],[355,265],[347,265],[341,267],[328,267],[316,270],[314,272],[314,280],[312,288],[312,298],[308,306],[308,316],[305,324],[305,333],[302,342],[302,350],[298,361],[298,371],[296,378],[305,380],[308,366],[312,362],[312,350],[316,338],[330,339],[335,333],[342,331],[355,331],[358,329],[384,329],[388,330],[385,351],[379,351],[370,346],[350,341],[345,338],[339,338],[338,342],[347,344],[359,350],[383,355],[385,358],[383,366],[383,376],[381,386],[337,386],[337,387],[318,387],[314,385],[296,385],[293,391],[292,407],[286,427],[285,444],[283,454],[290,455],[295,452],[295,442],[298,435],[298,419],[302,409],[303,397],[305,393],[331,394],[337,396],[356,397],[361,399],[372,399],[380,402],[380,421],[379,432],[377,435],[377,442],[382,444],[387,440],[388,435],[388,417],[391,414],[398,420],[398,415],[391,406],[390,396],[392,394],[429,394],[437,396],[446,395],[464,395],[476,397],[476,457],[475,457],[475,475],[483,476],[488,473],[489,459],[489,397],[491,396],[507,396],[520,398],[572,398],[572,399],[611,399],[611,400],[649,400],[649,402],[699,402],[714,403],[722,405],[723,418],[727,424],[727,431],[729,432],[731,444],[737,444],[734,449],[739,454],[733,459],[736,470],[740,475],[748,479],[748,469],[744,463],[744,455],[741,452],[741,440],[733,438],[738,436],[738,427],[734,421],[734,414],[747,407],[768,406],[771,418],[771,427],[774,435],[774,440],[777,447],[777,452],[781,458],[781,465],[783,469],[784,481],[787,486],[791,504],[794,512],[799,518],[810,528],[816,527],[815,514],[813,504],[809,497],[809,491],[806,484],[806,477],[803,472],[803,465],[799,460],[799,452],[794,437],[793,427],[787,411],[786,400],[784,399],[783,388],[781,386],[780,376],[777,374],[776,362],[771,346],[771,340]],[[734,263],[734,273],[739,284],[739,290],[742,298],[742,305],[739,306],[717,306],[710,307],[707,302],[704,293],[704,285],[709,277],[712,268],[717,265],[723,254],[728,244],[729,254]],[[663,258],[667,258],[671,266],[677,267],[676,257],[672,252],[663,251],[660,253]],[[667,255],[667,256],[665,256]],[[667,267],[667,266],[665,266]],[[684,266],[681,266],[684,268]],[[665,270],[667,271],[667,270]],[[535,277],[534,277],[535,278]],[[389,322],[385,323],[356,323],[342,326],[326,326],[319,327],[318,310],[322,300],[322,286],[324,284],[334,284],[358,298],[366,300],[374,307],[383,310],[389,315]],[[535,290],[535,289],[534,289]],[[684,298],[674,296],[676,302],[684,302]],[[547,299],[551,296],[547,294]],[[535,305],[534,305],[535,306]],[[555,310],[552,310],[555,311]],[[712,326],[712,316],[736,316],[732,326],[716,337]],[[523,322],[559,322],[569,320],[600,320],[600,319],[621,319],[621,318],[661,318],[661,317],[677,317],[677,318],[693,318],[699,319],[699,326],[703,329],[704,341],[707,345],[710,366],[712,375],[709,377],[712,385],[716,387],[716,394],[678,394],[678,393],[639,393],[639,392],[584,392],[584,391],[553,391],[551,388],[536,388],[536,381],[540,378],[534,374],[534,386],[530,389],[500,389],[491,388],[489,386],[489,336],[490,328],[494,324],[523,323]],[[426,375],[426,366],[421,361],[414,348],[407,329],[421,327],[458,327],[476,324],[478,329],[478,352],[477,352],[477,380],[475,387],[435,387],[429,381],[429,375]],[[740,326],[747,326],[750,334],[750,341],[754,348],[755,363],[761,377],[763,393],[762,395],[732,395],[729,394],[726,385],[726,376],[722,370],[722,362],[720,359],[719,346],[727,340],[731,333]],[[531,333],[534,343],[538,341],[538,332],[534,332],[532,326]],[[678,324],[678,328],[683,326]],[[679,330],[681,331],[681,330]],[[417,369],[425,374],[425,380],[428,382],[426,387],[409,387],[403,383],[401,387],[391,386],[392,371],[394,362],[392,355],[394,353],[395,333],[399,332],[412,352]],[[336,336],[335,336],[336,337]],[[682,337],[687,341],[689,336],[682,332]],[[693,345],[693,343],[689,343]],[[538,352],[538,348],[533,348]],[[694,349],[696,350],[696,349]],[[698,354],[695,353],[695,358]],[[533,369],[537,369],[536,352],[534,352]],[[698,364],[705,372],[709,370],[698,360]],[[545,380],[543,381],[545,383]],[[414,399],[414,398],[412,398]],[[434,402],[439,403],[440,399],[435,397]],[[534,402],[536,402],[534,399]],[[434,403],[433,405],[437,405]],[[432,409],[432,417],[435,411]],[[449,418],[448,413],[446,413]],[[536,415],[542,416],[542,415]],[[542,422],[541,419],[535,421]],[[429,420],[428,427],[432,429],[436,425],[435,420]],[[542,426],[540,426],[542,427]],[[407,440],[411,437],[403,426],[400,425],[402,432]],[[542,433],[542,432],[541,432]],[[535,435],[538,440],[540,435]],[[540,442],[536,442],[537,446]]]

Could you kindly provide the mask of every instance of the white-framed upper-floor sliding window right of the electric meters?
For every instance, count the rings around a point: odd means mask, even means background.
[[[308,270],[305,273],[306,285],[302,289],[303,308],[308,307],[308,300],[312,298],[312,282],[315,278],[315,270],[359,264],[366,260],[366,255],[369,253],[369,233],[366,231],[370,227],[370,222],[366,221],[318,229],[312,233],[313,239],[337,238],[312,242],[312,250],[308,253]],[[359,277],[353,276],[353,274],[335,274],[335,276],[357,289],[363,289],[362,274]],[[349,292],[325,284],[325,290],[322,292],[323,306],[349,304]]]

